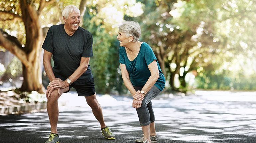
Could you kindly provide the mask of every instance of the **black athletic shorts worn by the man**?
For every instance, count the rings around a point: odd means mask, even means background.
[[[61,75],[55,75],[55,78],[59,78],[61,80],[66,80],[66,78],[64,78],[63,76]],[[89,81],[89,82],[86,82],[85,84],[79,84],[79,85],[76,85],[76,84],[71,84],[69,87],[69,89],[64,92],[64,93],[67,93],[69,92],[69,90],[73,87],[78,96],[91,96],[91,95],[94,95],[95,94],[95,87],[94,87],[94,79],[92,77],[92,79]]]

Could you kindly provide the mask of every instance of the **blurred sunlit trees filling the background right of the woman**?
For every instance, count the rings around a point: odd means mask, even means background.
[[[166,72],[166,81],[171,85],[167,84],[166,88],[175,89],[175,75],[179,75],[180,89],[188,87],[184,80],[186,74],[197,70],[198,75],[203,75],[196,77],[198,88],[253,89],[250,87],[253,87],[251,81],[255,81],[253,37],[256,35],[250,31],[255,31],[255,3],[247,0],[141,2],[145,4],[144,14],[135,20],[141,23],[141,39],[149,43],[162,71]],[[211,64],[214,69],[208,69]],[[218,73],[211,75],[211,70]],[[237,77],[242,79],[235,80]],[[248,77],[252,80],[243,83]],[[207,78],[212,82],[207,83]]]

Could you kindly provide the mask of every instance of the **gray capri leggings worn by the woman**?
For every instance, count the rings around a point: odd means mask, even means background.
[[[134,87],[136,91],[141,90],[142,88],[143,87]],[[136,109],[141,126],[149,125],[155,121],[151,100],[154,99],[160,92],[161,90],[154,85],[145,95],[141,103],[141,107]]]

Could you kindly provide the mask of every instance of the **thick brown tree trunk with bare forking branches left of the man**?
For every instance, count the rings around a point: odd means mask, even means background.
[[[55,0],[41,1],[40,10]],[[0,46],[16,55],[23,65],[23,84],[22,91],[37,91],[44,93],[45,88],[42,84],[42,42],[44,41],[43,29],[41,28],[40,12],[27,3],[20,1],[22,16],[20,20],[24,22],[26,29],[26,44],[22,48],[17,38],[0,31]]]

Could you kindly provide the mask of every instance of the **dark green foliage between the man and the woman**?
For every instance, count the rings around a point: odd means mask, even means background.
[[[119,69],[119,43],[116,37],[105,32],[102,25],[96,25],[90,20],[95,15],[84,14],[83,28],[93,35],[93,57],[90,58],[90,66],[94,77],[97,93],[123,93],[122,77]]]

